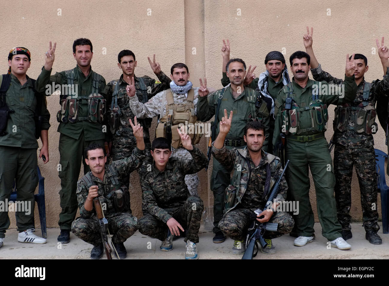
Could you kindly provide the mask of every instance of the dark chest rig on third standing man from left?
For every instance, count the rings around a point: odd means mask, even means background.
[[[147,94],[147,86],[146,82],[143,77],[137,77],[139,80],[139,86],[140,86],[140,93],[142,93],[142,103],[145,104],[147,101],[149,101],[149,97]],[[139,90],[137,90],[139,92]],[[120,125],[120,116],[122,114],[119,105],[117,105],[117,98],[123,98],[126,97],[127,93],[120,93],[119,94],[119,80],[112,82],[112,104],[111,104],[111,112],[110,112],[110,130],[112,134],[115,134],[117,132],[117,129]],[[127,104],[125,108],[130,108],[130,105]],[[145,128],[151,127],[152,118],[144,118],[144,119],[138,119],[138,122],[142,124]]]

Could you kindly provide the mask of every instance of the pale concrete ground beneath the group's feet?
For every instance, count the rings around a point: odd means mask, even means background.
[[[347,240],[352,246],[349,250],[339,250],[331,247],[327,249],[327,240],[321,235],[321,226],[315,223],[316,239],[303,247],[293,245],[293,237],[284,235],[273,240],[277,254],[260,253],[254,259],[384,259],[389,258],[389,234],[378,235],[382,238],[381,245],[370,244],[365,239],[365,231],[361,223],[352,223],[352,239]],[[41,235],[41,230],[35,232]],[[89,259],[92,246],[70,233],[70,242],[57,242],[59,228],[47,229],[46,244],[19,243],[16,229],[7,230],[4,246],[0,249],[0,259]],[[212,242],[213,233],[200,228],[200,242],[197,244],[200,259],[240,259],[241,255],[233,255],[231,248],[233,240],[226,239],[223,243]],[[173,250],[162,252],[159,250],[161,242],[136,232],[124,242],[127,249],[126,259],[183,259],[186,250],[184,239],[173,242]],[[114,257],[112,253],[112,257]],[[102,259],[105,259],[105,254]]]

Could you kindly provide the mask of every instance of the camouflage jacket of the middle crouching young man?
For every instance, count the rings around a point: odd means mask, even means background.
[[[185,184],[186,174],[195,174],[207,165],[207,157],[193,146],[188,151],[193,159],[170,157],[166,168],[160,172],[151,160],[144,161],[138,170],[142,187],[142,211],[157,216],[166,223],[172,218],[165,209],[182,207],[190,196]]]

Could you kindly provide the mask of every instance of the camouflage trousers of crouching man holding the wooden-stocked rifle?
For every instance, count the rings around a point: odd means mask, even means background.
[[[108,220],[108,230],[113,234],[112,241],[115,243],[126,241],[137,231],[138,219],[128,212],[107,215],[105,218]],[[93,246],[102,243],[100,225],[96,216],[77,218],[72,223],[72,233]]]

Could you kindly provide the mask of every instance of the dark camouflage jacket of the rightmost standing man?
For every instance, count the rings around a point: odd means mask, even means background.
[[[317,81],[327,81],[333,84],[343,84],[343,79],[337,79],[333,77],[328,72],[322,70],[321,65],[319,67],[311,69],[312,75]],[[363,87],[365,84],[365,80],[361,81],[357,86],[357,95],[355,99],[350,102],[352,107],[357,107],[361,104],[363,100]],[[381,97],[387,97],[389,95],[389,69],[384,76],[384,79],[381,81],[379,79],[371,82],[370,94],[369,94],[369,103],[375,106],[375,102]],[[350,111],[350,120],[347,125],[349,127],[355,126],[355,121],[351,118],[354,118],[356,115],[356,110]],[[334,130],[334,138],[333,141],[335,143],[339,143],[345,147],[349,148],[360,148],[360,147],[368,147],[374,145],[373,135],[366,133],[357,133],[354,130],[346,130],[345,132],[340,132],[339,130]]]

